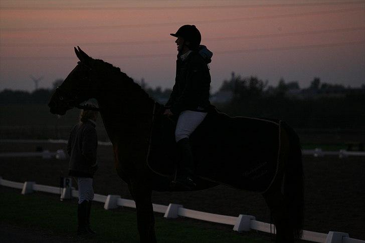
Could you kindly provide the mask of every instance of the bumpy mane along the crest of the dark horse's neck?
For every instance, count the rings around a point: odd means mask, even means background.
[[[111,76],[119,77],[119,80],[123,80],[123,82],[125,82],[133,89],[133,91],[138,92],[138,94],[140,94],[142,98],[148,98],[153,100],[139,84],[135,83],[134,80],[127,74],[123,73],[120,68],[114,67],[112,64],[105,62],[101,59],[94,59],[94,64],[101,67],[102,69],[107,69],[108,71],[110,71]]]

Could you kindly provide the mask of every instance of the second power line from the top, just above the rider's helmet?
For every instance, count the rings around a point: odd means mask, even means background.
[[[203,20],[203,21],[191,21],[191,23],[197,24],[213,24],[213,23],[230,23],[241,21],[255,21],[255,20],[272,20],[290,17],[303,17],[311,15],[325,15],[325,14],[338,14],[363,11],[364,8],[351,8],[351,9],[339,9],[339,10],[326,10],[307,12],[300,14],[283,14],[272,16],[257,16],[257,17],[244,17],[235,19],[221,19],[221,20]],[[148,24],[127,24],[127,25],[114,25],[114,26],[78,26],[78,27],[30,27],[30,28],[0,28],[1,31],[83,31],[83,30],[100,30],[100,29],[121,29],[121,28],[143,28],[143,27],[157,27],[157,26],[176,26],[186,24],[187,22],[169,22],[169,23],[148,23]]]

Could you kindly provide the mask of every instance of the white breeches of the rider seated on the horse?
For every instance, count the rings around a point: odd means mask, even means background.
[[[183,111],[177,119],[175,129],[175,140],[178,142],[183,138],[189,138],[194,130],[202,123],[207,116],[206,112]]]

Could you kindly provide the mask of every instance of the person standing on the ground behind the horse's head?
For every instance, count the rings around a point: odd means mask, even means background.
[[[86,107],[96,106],[87,104]],[[67,153],[70,156],[69,175],[76,177],[79,188],[78,235],[95,233],[90,228],[90,212],[94,198],[93,177],[98,168],[96,160],[98,139],[95,130],[97,117],[97,111],[82,110],[80,123],[72,128],[67,143]]]

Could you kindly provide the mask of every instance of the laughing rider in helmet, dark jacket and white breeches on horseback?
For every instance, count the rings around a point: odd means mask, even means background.
[[[208,63],[213,53],[201,46],[201,34],[194,25],[181,26],[175,34],[177,60],[176,78],[164,115],[176,116],[175,140],[180,157],[180,171],[173,183],[193,188],[194,158],[189,142],[193,131],[207,116],[210,105],[210,83]]]

